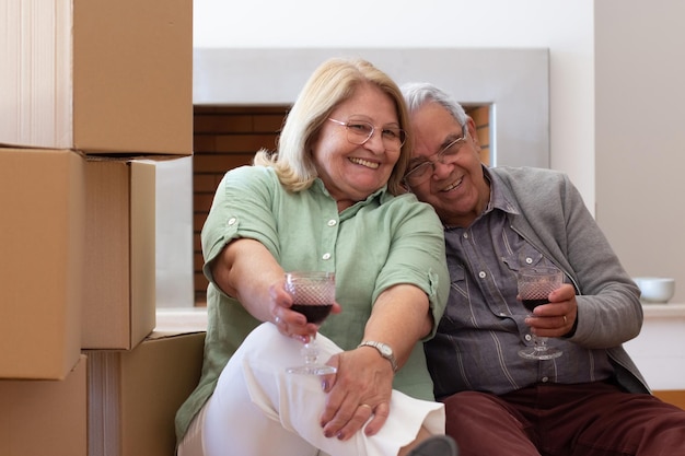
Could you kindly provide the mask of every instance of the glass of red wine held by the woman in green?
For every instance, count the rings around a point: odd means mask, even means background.
[[[321,325],[333,308],[335,302],[335,273],[323,271],[286,272],[286,291],[292,295],[291,309],[306,317],[307,323]],[[320,364],[316,335],[302,347],[304,364],[288,367],[289,374],[327,375],[335,374],[336,369]]]

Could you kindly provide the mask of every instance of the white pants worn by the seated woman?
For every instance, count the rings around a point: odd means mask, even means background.
[[[321,358],[340,352],[317,335]],[[302,343],[262,324],[225,366],[219,383],[181,443],[179,456],[390,456],[411,442],[421,425],[444,433],[444,406],[393,390],[391,413],[373,436],[327,439],[318,423],[326,395],[321,377],[286,373],[302,364]],[[320,453],[320,449],[322,453]]]

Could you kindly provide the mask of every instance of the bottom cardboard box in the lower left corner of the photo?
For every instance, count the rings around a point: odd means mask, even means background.
[[[0,381],[0,455],[86,456],[86,363],[59,382]]]

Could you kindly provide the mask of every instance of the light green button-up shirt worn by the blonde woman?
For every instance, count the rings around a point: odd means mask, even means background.
[[[410,194],[395,197],[383,188],[338,212],[320,179],[304,191],[289,192],[272,168],[244,166],[227,173],[219,185],[201,237],[210,280],[205,360],[199,385],[176,417],[179,440],[231,355],[260,323],[212,281],[208,264],[232,239],[259,241],[285,270],[335,272],[342,312],[328,318],[321,334],[344,350],[361,342],[373,303],[385,289],[419,287],[429,296],[434,321],[449,294],[442,224],[430,206]],[[394,387],[433,399],[421,342],[395,376]]]

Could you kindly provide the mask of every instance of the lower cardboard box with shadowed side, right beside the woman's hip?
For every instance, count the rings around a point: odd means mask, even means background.
[[[205,332],[153,332],[89,358],[89,456],[173,456],[176,411],[197,386]]]

